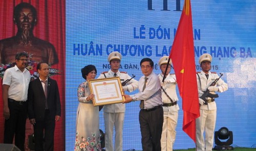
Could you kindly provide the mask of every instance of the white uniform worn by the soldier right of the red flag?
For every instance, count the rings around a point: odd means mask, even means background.
[[[201,71],[197,76],[197,85],[198,85],[198,96],[202,96],[204,91],[209,87],[209,85],[217,78],[219,78],[218,74],[208,72],[208,79],[205,76],[205,73]],[[201,81],[201,82],[200,82]],[[228,89],[227,83],[225,83],[222,79],[216,84],[219,88],[219,92],[224,92]],[[215,94],[215,92],[210,92],[211,94]],[[207,100],[211,100],[211,98],[207,98]],[[212,146],[214,145],[214,131],[216,124],[216,115],[217,115],[217,106],[216,102],[208,102],[207,105],[200,105],[200,117],[196,119],[196,140],[197,140],[197,151],[209,151],[212,150]],[[203,133],[205,131],[205,140]]]

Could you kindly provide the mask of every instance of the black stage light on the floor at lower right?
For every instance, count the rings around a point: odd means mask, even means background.
[[[221,127],[219,131],[215,131],[215,150],[233,150],[230,146],[233,143],[233,132],[227,127]]]

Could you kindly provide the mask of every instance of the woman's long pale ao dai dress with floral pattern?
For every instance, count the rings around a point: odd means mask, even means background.
[[[99,137],[99,107],[93,106],[93,101],[87,101],[90,88],[87,81],[82,82],[77,89],[78,108],[76,117],[76,151],[101,150]]]

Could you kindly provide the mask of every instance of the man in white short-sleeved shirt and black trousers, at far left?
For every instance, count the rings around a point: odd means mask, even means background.
[[[15,56],[16,65],[5,71],[3,78],[3,102],[5,131],[4,143],[15,145],[24,150],[27,119],[27,96],[30,73],[26,69],[28,55],[24,52]]]

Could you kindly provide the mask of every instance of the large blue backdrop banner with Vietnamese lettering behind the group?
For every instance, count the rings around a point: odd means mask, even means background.
[[[184,1],[66,1],[66,150],[74,149],[77,87],[84,81],[81,68],[94,64],[97,77],[109,71],[108,55],[122,55],[120,71],[142,76],[139,62],[155,62],[169,55]],[[211,71],[223,73],[229,89],[219,94],[216,131],[225,126],[233,132],[233,145],[251,147],[256,140],[256,2],[191,1],[196,70],[203,53],[212,55]],[[174,70],[171,71],[174,73]],[[131,93],[137,93],[137,91]],[[178,92],[178,89],[177,89]],[[179,97],[179,106],[182,100]],[[139,102],[126,104],[123,149],[141,148]],[[195,147],[182,131],[179,111],[174,149]],[[104,131],[103,113],[100,129]]]

